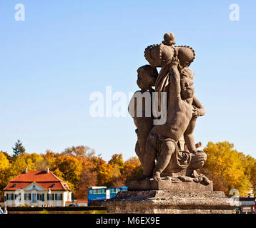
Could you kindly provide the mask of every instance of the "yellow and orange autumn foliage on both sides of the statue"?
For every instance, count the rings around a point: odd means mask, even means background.
[[[84,197],[86,188],[96,185],[96,182],[97,185],[117,187],[142,175],[142,165],[137,157],[124,162],[122,154],[115,154],[109,162],[105,162],[102,157],[94,156],[94,152],[84,148],[70,147],[61,154],[51,150],[44,155],[23,153],[11,162],[6,154],[0,152],[0,191],[26,167],[28,170],[46,170],[49,167],[81,197]],[[256,160],[237,152],[230,142],[209,142],[204,150],[208,157],[202,170],[213,180],[215,190],[222,190],[228,195],[231,189],[237,189],[240,195],[246,195],[256,183]],[[92,180],[88,180],[90,178]]]

